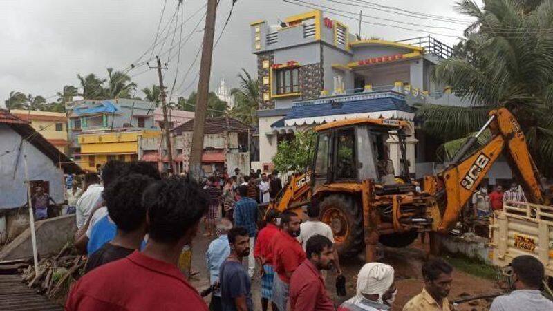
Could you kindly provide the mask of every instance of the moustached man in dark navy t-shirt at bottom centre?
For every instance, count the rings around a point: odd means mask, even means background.
[[[230,254],[221,265],[221,305],[223,311],[254,311],[252,281],[247,276],[242,259],[250,252],[250,234],[243,227],[229,231]]]

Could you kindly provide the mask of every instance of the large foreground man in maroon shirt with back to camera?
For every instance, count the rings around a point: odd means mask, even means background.
[[[144,250],[83,276],[65,310],[208,310],[177,267],[182,247],[191,243],[207,212],[205,191],[187,179],[169,178],[149,185],[142,204],[149,228]]]

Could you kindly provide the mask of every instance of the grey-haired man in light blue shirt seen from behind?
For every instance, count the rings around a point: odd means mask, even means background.
[[[207,253],[205,253],[205,262],[209,270],[209,284],[219,283],[219,268],[230,254],[229,238],[227,234],[232,229],[232,223],[227,218],[221,218],[217,225],[217,234],[219,235],[209,244]],[[221,290],[214,290],[212,301],[209,303],[209,310],[221,311]]]

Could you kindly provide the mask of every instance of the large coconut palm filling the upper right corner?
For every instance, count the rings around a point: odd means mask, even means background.
[[[553,163],[553,0],[458,3],[476,22],[465,32],[465,53],[446,59],[433,79],[449,85],[471,107],[420,105],[424,131],[444,140],[477,131],[491,109],[512,111],[538,165]],[[528,8],[535,8],[529,10]],[[446,155],[459,144],[444,145]]]

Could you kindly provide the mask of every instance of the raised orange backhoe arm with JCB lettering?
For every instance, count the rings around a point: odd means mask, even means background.
[[[478,136],[488,127],[492,134],[491,140],[464,159]],[[502,152],[514,175],[521,182],[528,200],[536,204],[543,203],[538,182],[539,173],[528,151],[521,126],[507,109],[494,110],[489,113],[489,121],[485,126],[465,143],[453,157],[452,163],[437,176],[438,188],[441,183],[445,195],[445,209],[438,225],[439,232],[447,232],[455,225],[463,205],[474,194],[476,187]]]

